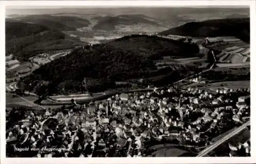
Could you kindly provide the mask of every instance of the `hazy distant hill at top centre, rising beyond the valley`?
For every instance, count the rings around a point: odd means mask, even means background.
[[[160,26],[156,22],[143,17],[142,15],[119,15],[96,17],[98,23],[93,26],[94,30],[113,31],[116,25],[134,25],[134,24],[148,24]]]

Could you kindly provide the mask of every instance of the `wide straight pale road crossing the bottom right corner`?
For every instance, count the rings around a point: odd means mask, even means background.
[[[224,143],[225,141],[227,141],[228,139],[230,139],[232,136],[238,134],[239,132],[241,132],[243,129],[245,129],[248,125],[250,125],[250,121],[244,123],[242,126],[240,126],[237,129],[234,129],[232,132],[228,133],[227,135],[223,136],[222,139],[220,139],[219,141],[217,141],[214,144],[211,144],[209,147],[205,148],[203,151],[201,151],[197,157],[202,157],[207,155],[209,152],[211,152],[212,150],[214,150],[215,148],[217,148],[219,145],[221,145],[222,143]]]

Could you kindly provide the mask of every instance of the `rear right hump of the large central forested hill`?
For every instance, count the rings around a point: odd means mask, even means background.
[[[163,56],[191,57],[193,53],[198,53],[199,51],[196,44],[147,35],[125,36],[106,43],[106,45],[134,51],[155,60]]]

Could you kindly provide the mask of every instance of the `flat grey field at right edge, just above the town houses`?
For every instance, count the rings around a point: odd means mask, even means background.
[[[226,87],[229,89],[250,88],[250,81],[224,81],[219,83],[212,83],[207,87],[202,87],[202,89],[217,90],[218,88],[222,87]]]

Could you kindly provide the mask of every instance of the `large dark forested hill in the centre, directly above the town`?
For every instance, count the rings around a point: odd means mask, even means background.
[[[61,92],[63,88],[72,93],[82,92],[82,80],[87,77],[94,91],[105,90],[111,88],[114,81],[150,77],[157,71],[152,56],[155,59],[165,54],[189,57],[198,51],[196,44],[156,36],[126,36],[105,44],[77,48],[25,77],[22,87],[29,89],[28,85],[32,84],[36,89],[42,81],[47,81],[44,90],[49,92]]]

